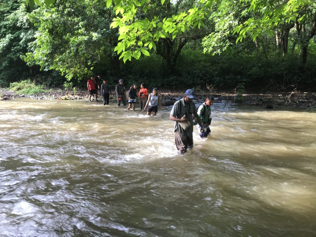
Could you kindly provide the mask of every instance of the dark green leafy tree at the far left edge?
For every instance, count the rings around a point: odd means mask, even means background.
[[[24,1],[3,0],[0,6],[0,82],[5,85],[34,75],[20,56],[34,38],[35,29],[27,18]]]

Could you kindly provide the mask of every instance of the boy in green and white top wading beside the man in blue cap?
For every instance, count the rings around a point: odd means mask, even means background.
[[[208,95],[205,99],[205,102],[200,105],[197,109],[197,115],[201,120],[201,123],[204,128],[204,132],[199,132],[199,135],[201,138],[207,137],[207,135],[211,132],[210,130],[210,124],[212,121],[211,118],[211,107],[213,104],[214,98],[211,95]],[[201,126],[197,124],[197,130],[201,130]]]

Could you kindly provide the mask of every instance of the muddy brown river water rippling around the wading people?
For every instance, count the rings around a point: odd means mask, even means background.
[[[215,101],[177,155],[171,108],[1,101],[0,236],[316,236],[315,110]]]

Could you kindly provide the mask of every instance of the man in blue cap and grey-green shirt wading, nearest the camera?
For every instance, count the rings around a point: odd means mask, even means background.
[[[170,112],[170,120],[175,121],[174,123],[174,138],[178,154],[183,154],[187,149],[193,147],[193,118],[195,116],[198,125],[201,127],[201,133],[204,132],[201,119],[198,117],[197,108],[193,102],[195,93],[193,90],[188,89],[185,91],[185,96],[174,103]],[[191,124],[188,128],[184,129],[179,122],[187,122]]]

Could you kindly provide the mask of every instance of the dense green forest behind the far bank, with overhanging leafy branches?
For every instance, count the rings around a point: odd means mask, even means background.
[[[0,87],[316,89],[314,1],[35,2],[0,3]]]

